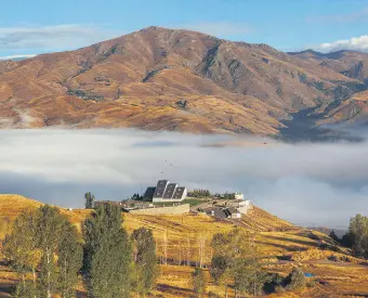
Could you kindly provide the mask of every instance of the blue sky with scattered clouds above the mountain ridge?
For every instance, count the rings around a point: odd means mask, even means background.
[[[220,38],[368,51],[368,0],[13,0],[2,1],[0,57],[73,50],[148,26]]]

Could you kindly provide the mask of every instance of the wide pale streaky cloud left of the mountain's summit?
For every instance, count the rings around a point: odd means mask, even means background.
[[[69,24],[44,27],[0,27],[2,52],[48,52],[76,49],[111,38],[95,25]]]

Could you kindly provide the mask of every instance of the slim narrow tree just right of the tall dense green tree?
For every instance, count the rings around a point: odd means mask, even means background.
[[[135,289],[137,294],[146,295],[156,285],[158,265],[156,243],[152,230],[140,228],[133,231],[135,262]]]

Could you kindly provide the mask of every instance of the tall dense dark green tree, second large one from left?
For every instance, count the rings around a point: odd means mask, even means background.
[[[98,206],[84,221],[83,237],[83,280],[89,297],[129,297],[132,247],[120,208]]]

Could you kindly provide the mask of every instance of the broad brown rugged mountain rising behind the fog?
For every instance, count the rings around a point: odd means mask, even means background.
[[[76,51],[0,61],[0,128],[275,135],[293,113],[319,106],[326,114],[364,91],[366,61],[148,27]]]

